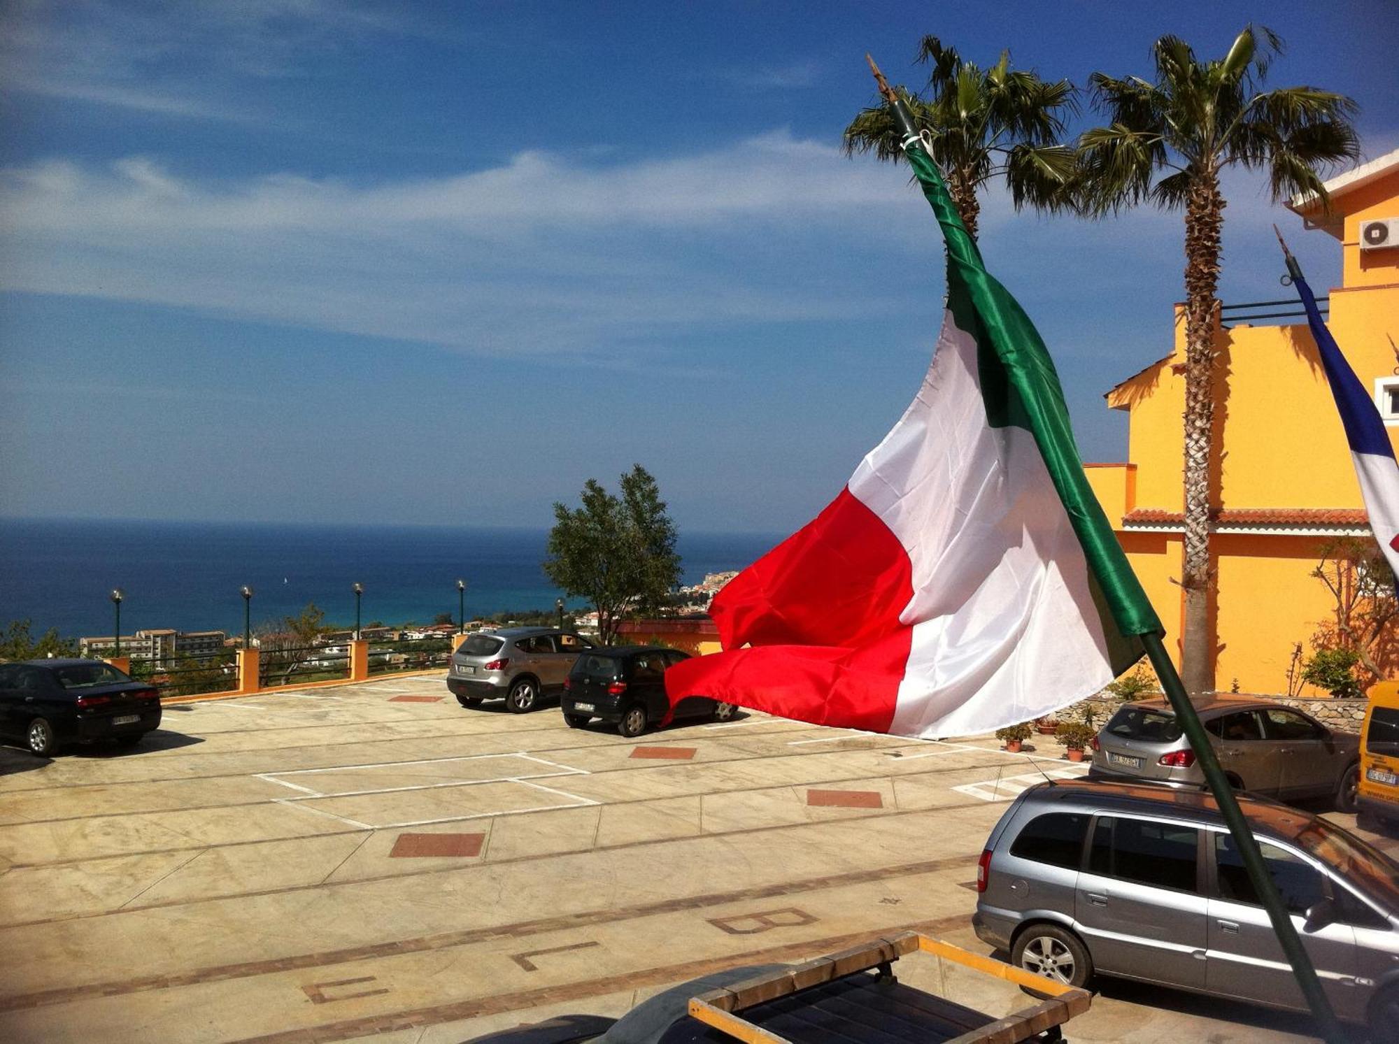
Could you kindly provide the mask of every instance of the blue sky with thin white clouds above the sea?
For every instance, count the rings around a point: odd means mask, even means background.
[[[788,530],[900,416],[940,312],[907,172],[838,151],[863,55],[936,32],[1076,81],[1163,32],[1399,146],[1392,0],[25,3],[0,24],[6,515],[544,526],[632,462],[681,526]],[[1087,119],[1087,118],[1086,118]],[[1234,176],[1226,301],[1339,249]],[[1087,459],[1170,347],[1181,218],[1014,214],[982,249]]]

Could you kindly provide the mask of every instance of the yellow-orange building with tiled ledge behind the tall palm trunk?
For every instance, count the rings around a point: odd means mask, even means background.
[[[1328,325],[1360,381],[1374,390],[1399,445],[1399,151],[1326,182],[1330,213],[1290,209],[1308,230],[1340,241],[1342,285]],[[1391,220],[1388,244],[1361,244],[1361,227]],[[1284,230],[1287,232],[1288,230]],[[1293,227],[1293,235],[1301,235]],[[1315,234],[1315,232],[1312,232]],[[1371,230],[1371,237],[1378,231]],[[1279,255],[1277,270],[1283,271]],[[1279,298],[1293,291],[1279,288]],[[1321,288],[1316,288],[1321,294]],[[1252,313],[1286,305],[1251,306]],[[1295,306],[1294,306],[1295,308]],[[1217,575],[1216,686],[1283,693],[1293,648],[1333,616],[1335,599],[1311,577],[1328,537],[1368,536],[1360,487],[1311,333],[1252,325],[1224,306],[1216,334],[1212,554]],[[1258,318],[1263,318],[1258,315]],[[1276,322],[1277,316],[1272,316]],[[1179,654],[1185,409],[1184,309],[1170,355],[1107,395],[1129,417],[1129,463],[1088,465],[1088,479]],[[1304,691],[1315,696],[1315,691]]]

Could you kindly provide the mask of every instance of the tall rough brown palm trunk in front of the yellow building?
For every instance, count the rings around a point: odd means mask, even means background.
[[[1181,680],[1192,697],[1214,691],[1210,627],[1210,453],[1214,442],[1214,298],[1224,197],[1214,174],[1198,175],[1185,203],[1185,628]]]

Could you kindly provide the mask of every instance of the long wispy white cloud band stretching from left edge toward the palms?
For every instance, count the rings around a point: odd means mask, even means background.
[[[606,360],[687,326],[866,311],[870,280],[830,288],[841,252],[907,239],[887,209],[908,203],[901,172],[786,133],[372,185],[56,160],[0,172],[0,287]]]

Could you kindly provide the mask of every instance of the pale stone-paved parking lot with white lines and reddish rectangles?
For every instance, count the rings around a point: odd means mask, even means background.
[[[132,752],[0,749],[0,1040],[435,1044],[888,931],[985,952],[988,831],[1081,771],[1042,746],[764,715],[625,740],[462,710],[434,676],[169,707]],[[1109,984],[1072,1037],[1307,1030]]]

